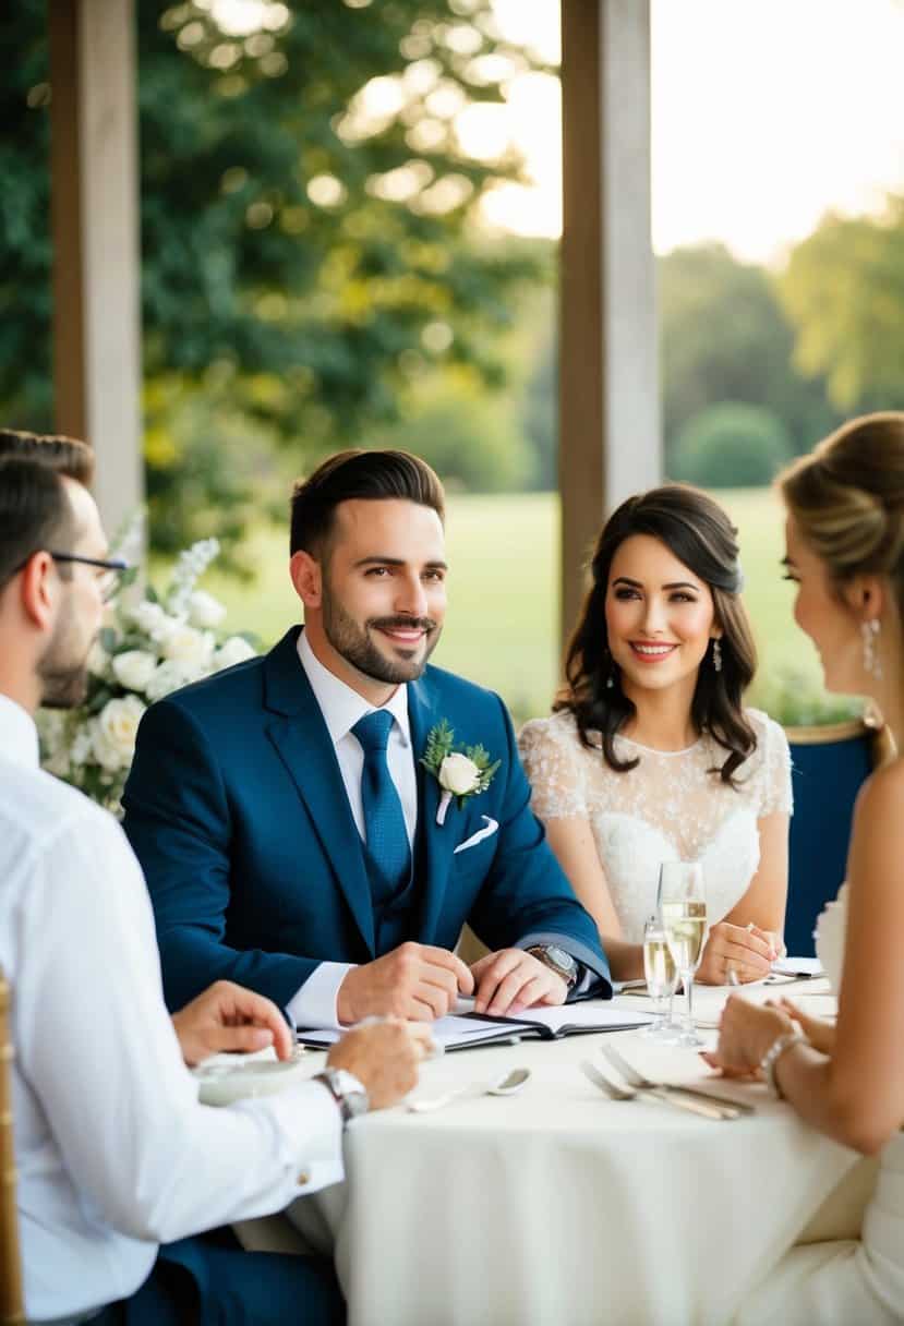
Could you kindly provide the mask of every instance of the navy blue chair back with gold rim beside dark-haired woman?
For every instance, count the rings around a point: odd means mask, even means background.
[[[844,882],[856,794],[888,756],[891,737],[860,719],[785,735],[794,792],[785,943],[789,953],[811,957],[817,918]]]

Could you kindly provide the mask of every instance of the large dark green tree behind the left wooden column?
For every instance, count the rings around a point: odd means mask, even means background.
[[[433,365],[501,386],[500,333],[538,268],[530,244],[475,227],[518,159],[473,159],[456,135],[463,110],[498,102],[530,66],[489,0],[261,0],[245,34],[201,0],[137,8],[144,373],[166,385],[148,391],[151,487],[175,491],[207,464],[211,439],[184,411],[174,424],[174,395],[290,442],[301,464],[396,418]],[[4,9],[0,50],[0,399],[11,420],[46,427],[42,0]]]

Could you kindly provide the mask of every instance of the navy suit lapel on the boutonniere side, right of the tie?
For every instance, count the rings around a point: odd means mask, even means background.
[[[411,725],[412,754],[418,773],[418,830],[423,837],[427,878],[424,880],[424,903],[422,910],[420,939],[425,944],[433,941],[445,886],[452,865],[452,853],[459,841],[459,819],[461,812],[451,802],[444,825],[436,823],[440,804],[440,785],[423,764],[420,757],[427,747],[429,729],[444,715],[437,708],[435,688],[428,680],[408,683],[408,721]]]

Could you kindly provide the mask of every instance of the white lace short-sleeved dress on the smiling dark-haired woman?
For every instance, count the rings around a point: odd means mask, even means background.
[[[785,733],[765,713],[748,709],[757,749],[737,770],[738,788],[709,770],[728,752],[710,737],[687,751],[651,751],[615,739],[619,758],[640,764],[616,773],[600,747],[581,744],[571,713],[526,723],[518,737],[543,822],[583,818],[593,830],[612,906],[630,943],[656,910],[663,861],[703,865],[709,923],[721,920],[744,895],[760,865],[757,821],[791,810],[791,765]],[[596,736],[596,735],[594,735]]]

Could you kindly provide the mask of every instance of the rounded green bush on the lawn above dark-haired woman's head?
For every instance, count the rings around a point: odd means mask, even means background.
[[[669,472],[701,488],[758,488],[793,455],[785,424],[771,410],[725,400],[689,419]]]

